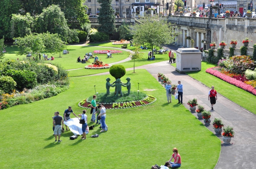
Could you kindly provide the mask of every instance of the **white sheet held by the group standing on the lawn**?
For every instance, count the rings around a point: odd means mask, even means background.
[[[79,118],[70,118],[67,121],[64,121],[64,124],[66,124],[70,131],[74,133],[74,135],[82,135],[82,124],[79,124]],[[85,133],[89,133],[89,127],[86,127]]]

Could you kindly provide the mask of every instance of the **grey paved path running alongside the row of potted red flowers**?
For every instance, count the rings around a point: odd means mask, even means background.
[[[166,47],[172,51],[177,50],[177,47],[172,45]],[[157,80],[158,72],[169,77],[174,84],[177,84],[177,81],[180,80],[183,84],[183,105],[188,110],[189,106],[186,102],[193,98],[197,98],[198,104],[203,105],[206,110],[211,109],[210,102],[208,101],[210,88],[186,74],[178,73],[175,71],[175,67],[169,64],[169,61],[143,65],[136,67],[136,69],[146,69]],[[133,70],[133,68],[126,70]],[[101,74],[109,74],[109,72],[99,73],[97,75]],[[215,90],[218,92],[218,88]],[[177,100],[173,99],[171,104],[177,104]],[[235,131],[235,137],[232,138],[231,144],[221,144],[221,154],[215,169],[256,169],[256,115],[248,112],[220,94],[218,94],[218,100],[214,105],[214,110],[210,111],[212,113],[212,120],[214,117],[221,118],[226,126],[234,127]],[[197,117],[197,113],[192,114]],[[203,120],[200,121],[204,124]],[[212,128],[212,122],[211,125],[206,127],[215,133]],[[222,141],[221,135],[216,136]],[[200,158],[200,155],[198,158]],[[207,161],[205,162],[207,163]]]

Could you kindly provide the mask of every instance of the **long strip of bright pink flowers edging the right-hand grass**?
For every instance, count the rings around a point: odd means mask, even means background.
[[[224,80],[225,82],[230,83],[231,85],[235,85],[236,87],[239,87],[245,91],[253,93],[253,95],[256,95],[256,89],[254,89],[251,85],[247,85],[244,82],[236,80],[230,76],[224,75],[221,72],[219,72],[218,70],[215,70],[216,68],[218,68],[218,67],[208,68],[206,70],[206,72]]]

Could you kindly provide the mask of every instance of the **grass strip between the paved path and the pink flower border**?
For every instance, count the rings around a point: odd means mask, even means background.
[[[256,96],[240,89],[239,87],[230,85],[229,83],[224,82],[223,80],[205,72],[207,68],[212,68],[215,66],[216,65],[208,62],[202,62],[201,71],[189,72],[186,74],[188,74],[194,79],[197,79],[198,81],[202,82],[204,85],[207,85],[208,87],[211,87],[213,85],[217,93],[220,93],[221,95],[227,97],[227,99],[230,99],[236,104],[239,104],[241,107],[244,107],[250,112],[256,114]]]

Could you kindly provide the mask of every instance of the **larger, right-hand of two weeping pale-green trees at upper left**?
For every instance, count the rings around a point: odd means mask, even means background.
[[[36,18],[36,24],[38,33],[48,31],[51,34],[61,35],[66,42],[79,42],[77,32],[68,28],[64,12],[56,5],[43,9],[43,12]]]

